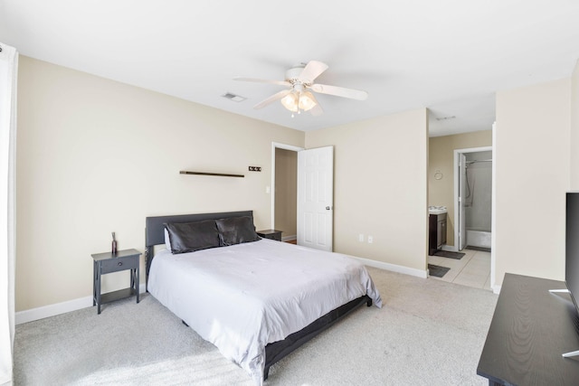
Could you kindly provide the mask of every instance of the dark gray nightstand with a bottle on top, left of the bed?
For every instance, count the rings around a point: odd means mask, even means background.
[[[113,254],[111,252],[94,253],[93,276],[92,276],[92,306],[97,306],[100,314],[100,305],[119,300],[125,297],[137,295],[138,303],[138,260],[141,255],[137,249],[123,249]],[[100,280],[102,275],[130,269],[130,287],[118,291],[100,294]]]

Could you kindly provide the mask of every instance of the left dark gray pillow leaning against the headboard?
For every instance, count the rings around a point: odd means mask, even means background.
[[[219,247],[219,232],[214,220],[169,222],[165,229],[171,241],[171,253]]]

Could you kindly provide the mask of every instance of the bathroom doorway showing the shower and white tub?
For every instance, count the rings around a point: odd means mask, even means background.
[[[490,251],[492,235],[492,147],[454,151],[454,240],[459,250]]]

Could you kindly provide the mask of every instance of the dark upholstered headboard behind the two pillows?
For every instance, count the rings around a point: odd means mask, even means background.
[[[145,219],[145,259],[147,261],[147,282],[148,271],[151,268],[153,260],[153,247],[159,244],[165,244],[165,224],[167,222],[194,222],[204,220],[219,220],[230,217],[249,216],[253,221],[253,211],[241,212],[218,212],[218,213],[195,213],[195,214],[176,214],[169,216],[147,217]]]

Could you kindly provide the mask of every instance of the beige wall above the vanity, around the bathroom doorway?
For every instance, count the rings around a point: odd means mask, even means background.
[[[428,204],[446,206],[446,245],[454,246],[454,150],[492,146],[492,130],[432,137],[428,142]],[[440,180],[434,178],[437,171]]]

